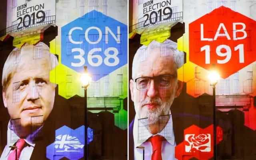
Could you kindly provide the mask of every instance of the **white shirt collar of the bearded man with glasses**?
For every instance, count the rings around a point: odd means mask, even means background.
[[[160,132],[160,133],[157,133],[156,135],[161,135],[163,136],[167,142],[169,142],[170,144],[174,145],[175,143],[175,139],[174,139],[174,132],[173,132],[173,125],[172,125],[172,114],[171,114],[171,111],[169,112],[169,114],[171,115],[170,116],[170,119],[168,121],[168,127],[167,125],[164,127],[164,129]],[[137,146],[140,146],[142,143],[146,142],[146,140],[148,140],[150,137],[152,136],[155,136],[155,135],[152,135],[149,131],[148,131],[148,128],[147,126],[142,126],[141,131],[146,131],[146,136],[144,136],[144,139],[141,140],[141,141],[138,141],[138,118],[137,118],[137,114],[135,115],[135,118],[134,118],[134,126],[133,126],[133,139],[134,139],[134,146],[137,147]],[[170,130],[170,131],[168,131]],[[165,137],[164,133],[165,131],[167,131],[167,133],[169,132],[170,136],[168,137]]]

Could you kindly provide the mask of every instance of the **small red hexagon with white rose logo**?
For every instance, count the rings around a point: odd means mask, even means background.
[[[216,128],[216,142],[223,139],[222,128]],[[193,157],[208,160],[213,157],[213,125],[202,129],[192,125],[184,130],[184,141],[175,147],[175,158],[189,160]]]

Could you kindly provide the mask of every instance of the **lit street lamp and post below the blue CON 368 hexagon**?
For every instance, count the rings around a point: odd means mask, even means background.
[[[79,78],[82,82],[82,88],[84,88],[84,157],[87,160],[87,87],[89,86],[89,81],[92,79],[90,74],[87,73],[87,66],[84,66],[84,73]]]

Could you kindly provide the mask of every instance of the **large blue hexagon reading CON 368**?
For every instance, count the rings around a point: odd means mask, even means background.
[[[62,64],[94,81],[127,64],[127,25],[93,10],[61,28]]]

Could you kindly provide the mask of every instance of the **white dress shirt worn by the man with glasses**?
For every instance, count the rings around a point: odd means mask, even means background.
[[[171,112],[170,112],[171,115]],[[144,127],[144,128],[143,128]],[[134,126],[133,126],[133,138],[134,138],[134,160],[142,160],[143,158],[143,149],[142,148],[136,148],[137,146],[144,146],[145,147],[145,160],[151,160],[152,156],[152,144],[151,142],[147,142],[147,139],[155,136],[152,135],[146,126],[140,127],[141,130],[147,130],[146,136],[144,134],[144,141],[138,142],[138,118],[137,115],[134,118]],[[161,135],[166,140],[162,141],[162,160],[177,160],[175,158],[175,146],[176,142],[174,139],[174,132],[172,128],[172,115],[170,116],[170,119],[167,123],[167,125],[164,127],[164,129],[158,133],[157,135]]]

